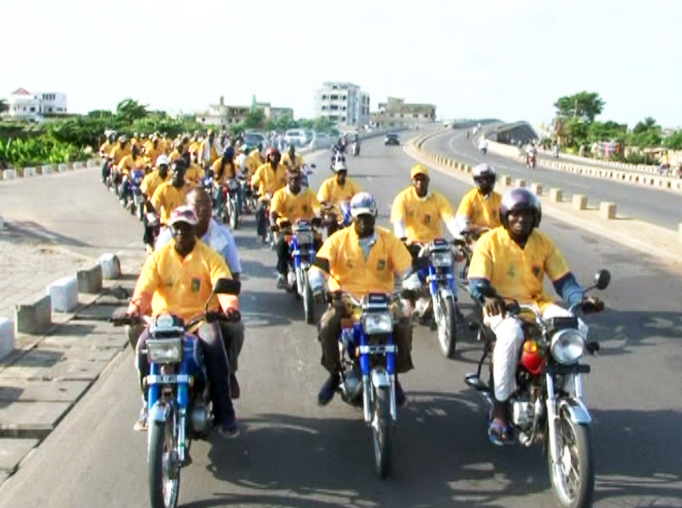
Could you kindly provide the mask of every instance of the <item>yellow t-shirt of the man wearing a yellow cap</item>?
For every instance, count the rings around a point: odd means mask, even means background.
[[[407,239],[428,242],[442,238],[441,220],[448,222],[455,214],[447,198],[440,192],[429,191],[426,198],[417,196],[414,187],[400,192],[393,201],[391,222],[405,222]]]

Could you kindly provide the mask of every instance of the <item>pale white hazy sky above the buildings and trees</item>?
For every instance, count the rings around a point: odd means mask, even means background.
[[[256,95],[310,118],[340,80],[372,110],[391,96],[539,125],[587,90],[599,120],[682,126],[682,0],[0,0],[0,20],[0,98],[64,92],[73,113]]]

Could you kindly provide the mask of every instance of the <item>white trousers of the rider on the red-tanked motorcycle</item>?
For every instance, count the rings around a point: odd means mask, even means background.
[[[542,317],[557,318],[568,317],[569,312],[551,303],[542,313]],[[515,316],[485,316],[483,320],[487,327],[495,333],[497,340],[492,351],[492,377],[495,385],[495,399],[505,402],[516,391],[516,365],[518,355],[523,346],[524,336],[521,320]],[[588,327],[582,319],[578,319],[578,329],[587,338]],[[565,386],[572,386],[569,380]]]

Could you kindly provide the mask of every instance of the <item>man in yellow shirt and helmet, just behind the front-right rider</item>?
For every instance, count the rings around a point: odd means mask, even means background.
[[[490,164],[482,163],[473,168],[476,188],[470,190],[460,201],[455,219],[460,230],[477,233],[501,225],[500,202],[502,196],[494,192],[497,175]]]

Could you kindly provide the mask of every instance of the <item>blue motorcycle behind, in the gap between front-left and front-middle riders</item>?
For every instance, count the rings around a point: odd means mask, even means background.
[[[313,219],[311,222],[299,219],[292,227],[291,222],[285,220],[280,222],[278,228],[275,228],[282,234],[291,233],[291,240],[289,241],[291,269],[286,282],[286,290],[303,300],[303,315],[308,325],[315,323],[315,305],[312,299],[312,289],[308,282],[308,270],[315,258],[314,228],[318,224],[318,219]]]

